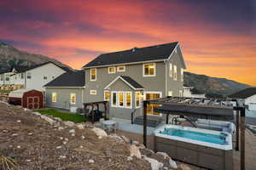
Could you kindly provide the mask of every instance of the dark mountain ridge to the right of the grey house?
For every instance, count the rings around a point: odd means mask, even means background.
[[[207,77],[191,72],[184,72],[184,86],[193,86],[202,93],[212,95],[228,95],[249,88],[247,84],[235,82],[226,78]]]

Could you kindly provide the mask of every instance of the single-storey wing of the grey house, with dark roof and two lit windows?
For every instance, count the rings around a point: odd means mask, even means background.
[[[45,86],[46,106],[73,110],[84,103],[84,71],[66,72]]]

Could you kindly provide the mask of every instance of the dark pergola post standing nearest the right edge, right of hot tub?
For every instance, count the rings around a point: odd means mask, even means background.
[[[245,170],[245,107],[241,108],[241,153],[240,153],[240,169]]]

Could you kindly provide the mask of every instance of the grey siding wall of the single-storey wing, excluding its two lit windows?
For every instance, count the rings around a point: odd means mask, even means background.
[[[84,88],[46,88],[46,107],[55,107],[69,110],[70,107],[83,108],[82,93]],[[57,94],[57,101],[52,102],[51,94]],[[70,94],[76,94],[76,104],[70,103]]]

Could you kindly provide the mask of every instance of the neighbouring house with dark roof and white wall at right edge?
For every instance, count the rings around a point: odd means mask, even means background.
[[[230,94],[232,99],[244,99],[245,105],[248,105],[248,110],[256,111],[256,88],[246,88],[235,94]]]

